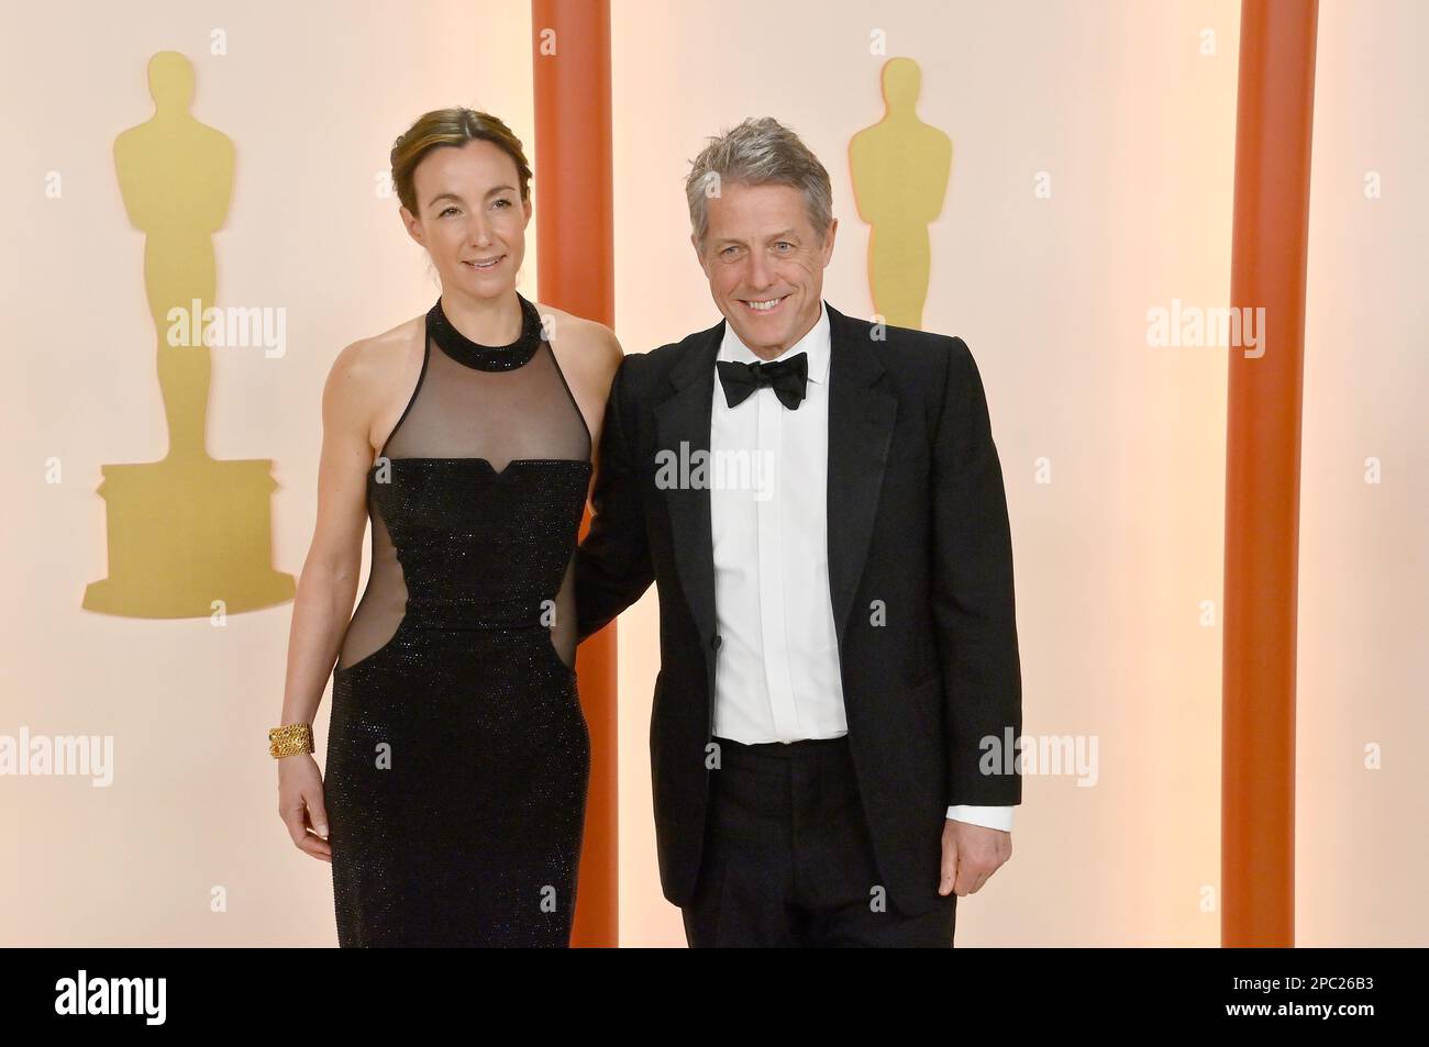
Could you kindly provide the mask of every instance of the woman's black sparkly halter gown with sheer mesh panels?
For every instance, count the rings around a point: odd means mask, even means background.
[[[337,938],[567,946],[590,776],[573,554],[590,431],[517,296],[480,346],[437,301],[367,474],[372,571],[333,670]]]

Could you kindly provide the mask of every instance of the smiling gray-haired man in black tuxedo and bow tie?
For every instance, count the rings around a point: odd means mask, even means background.
[[[977,367],[823,300],[829,176],[777,121],[686,193],[725,319],[622,363],[576,553],[582,638],[659,586],[662,888],[690,946],[952,946],[1022,800]]]

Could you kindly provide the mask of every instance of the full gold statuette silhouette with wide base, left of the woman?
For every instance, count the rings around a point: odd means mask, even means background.
[[[144,233],[169,451],[101,467],[109,577],[86,587],[83,606],[137,618],[204,617],[220,600],[226,611],[270,607],[294,593],[293,576],[270,564],[273,463],[209,457],[206,324],[176,340],[169,319],[174,307],[203,317],[214,300],[213,233],[229,211],[234,149],[189,111],[193,66],[183,54],[150,59],[149,91],[154,114],[119,136],[114,167],[129,220]]]

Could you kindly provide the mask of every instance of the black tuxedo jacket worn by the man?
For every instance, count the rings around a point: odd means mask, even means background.
[[[829,591],[849,744],[887,897],[916,914],[939,903],[947,806],[1022,800],[1006,751],[1022,728],[1007,504],[963,340],[902,327],[880,337],[825,306]],[[662,490],[656,454],[707,454],[723,337],[720,320],[626,356],[576,551],[582,640],[659,583],[650,771],[660,883],[676,906],[700,868],[720,637],[709,487]]]

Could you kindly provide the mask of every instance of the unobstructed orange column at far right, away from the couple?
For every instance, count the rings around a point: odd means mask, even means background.
[[[1243,0],[1226,421],[1220,944],[1295,944],[1295,603],[1315,0]],[[1250,353],[1248,357],[1246,354]],[[1263,354],[1260,354],[1263,353]]]

